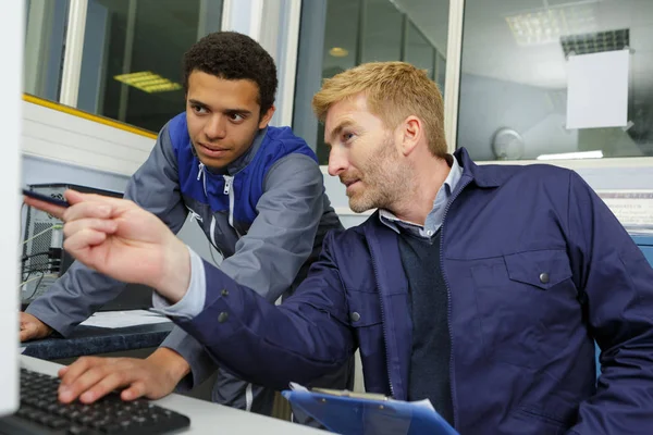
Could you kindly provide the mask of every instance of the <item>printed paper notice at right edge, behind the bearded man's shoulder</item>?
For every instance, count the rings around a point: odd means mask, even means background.
[[[653,190],[597,190],[628,231],[653,233]]]

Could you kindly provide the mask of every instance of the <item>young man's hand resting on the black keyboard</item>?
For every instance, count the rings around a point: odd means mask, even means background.
[[[145,360],[83,357],[59,371],[59,400],[69,403],[79,398],[83,403],[93,403],[121,388],[126,388],[121,393],[123,400],[141,396],[159,399],[172,393],[188,370],[178,353],[165,348]]]

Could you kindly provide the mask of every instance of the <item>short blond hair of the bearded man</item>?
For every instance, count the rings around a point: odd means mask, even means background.
[[[447,153],[442,94],[426,71],[405,62],[364,63],[325,79],[312,99],[313,112],[324,122],[329,108],[361,92],[370,112],[387,128],[394,129],[415,115],[424,124],[431,153]]]

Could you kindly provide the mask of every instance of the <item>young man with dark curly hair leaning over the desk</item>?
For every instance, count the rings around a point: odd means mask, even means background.
[[[222,252],[220,269],[273,302],[303,281],[326,232],[342,228],[324,194],[317,158],[291,128],[268,125],[276,69],[251,38],[233,32],[206,36],[184,57],[183,83],[185,113],[163,126],[125,197],[174,233],[192,214]],[[122,282],[74,263],[21,313],[21,340],[52,331],[69,335],[123,288]],[[204,346],[178,327],[145,360],[91,361],[88,385],[131,385],[125,399],[159,398],[180,382],[182,389],[192,388],[217,369]],[[352,388],[352,362],[321,384]],[[219,403],[264,414],[271,413],[273,398],[274,390],[222,370],[212,394]]]

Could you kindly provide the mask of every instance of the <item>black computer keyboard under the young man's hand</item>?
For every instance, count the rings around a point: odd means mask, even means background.
[[[118,393],[90,405],[58,399],[59,378],[21,369],[21,408],[0,419],[0,433],[57,435],[170,434],[190,425],[186,415]]]

